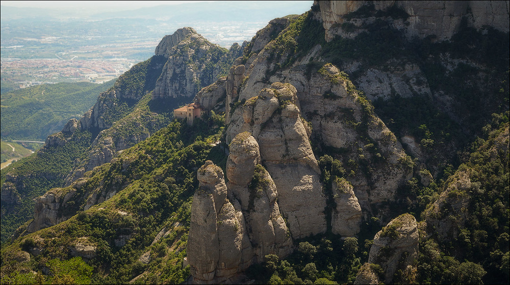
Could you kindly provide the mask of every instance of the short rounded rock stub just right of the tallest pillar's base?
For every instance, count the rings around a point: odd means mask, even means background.
[[[361,206],[352,185],[345,179],[333,182],[335,210],[331,213],[331,232],[352,237],[360,232]]]

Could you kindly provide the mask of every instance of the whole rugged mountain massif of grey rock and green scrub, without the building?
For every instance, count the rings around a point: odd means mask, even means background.
[[[324,1],[230,50],[165,36],[2,170],[2,281],[506,283],[507,7]]]

